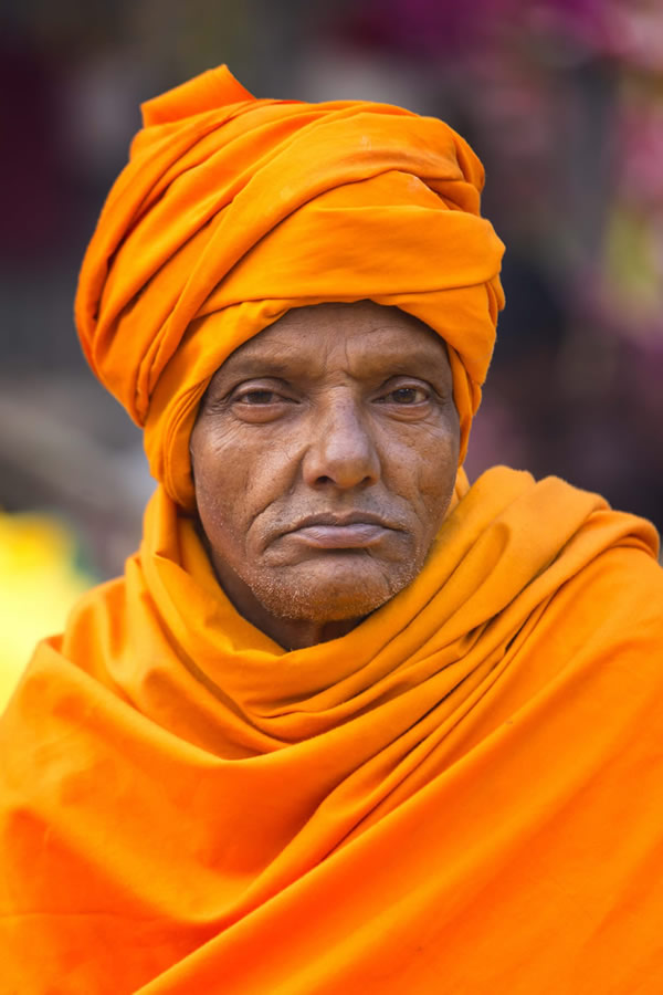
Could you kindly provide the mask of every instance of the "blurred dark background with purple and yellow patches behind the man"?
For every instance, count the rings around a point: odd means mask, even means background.
[[[507,244],[471,476],[556,473],[663,525],[660,0],[4,0],[0,20],[0,591],[24,570],[32,630],[44,556],[74,591],[138,542],[152,484],[81,357],[76,274],[139,102],[221,62],[259,96],[386,101],[469,138]]]

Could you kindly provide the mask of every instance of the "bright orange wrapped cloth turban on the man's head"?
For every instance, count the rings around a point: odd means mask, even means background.
[[[193,505],[189,436],[223,360],[291,307],[371,298],[446,342],[461,462],[503,304],[482,165],[448,125],[362,101],[259,101],[225,66],[143,105],[88,247],[76,324]]]

